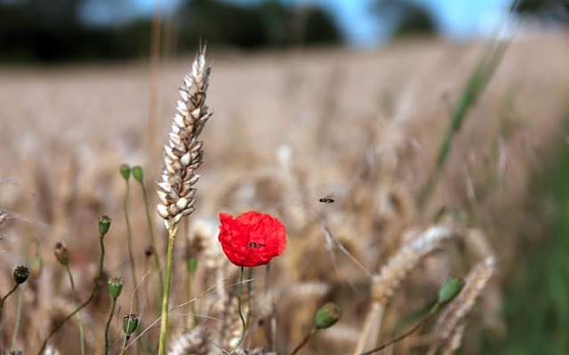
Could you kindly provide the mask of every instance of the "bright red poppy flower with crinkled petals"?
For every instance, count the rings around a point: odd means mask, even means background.
[[[236,218],[220,213],[220,222],[221,248],[237,266],[268,264],[284,252],[286,230],[275,217],[254,211]]]

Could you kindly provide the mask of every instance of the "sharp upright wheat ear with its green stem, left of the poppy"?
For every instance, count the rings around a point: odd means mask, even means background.
[[[172,122],[168,145],[164,146],[164,169],[158,183],[158,214],[168,229],[166,280],[162,299],[162,319],[158,354],[164,355],[168,325],[168,304],[172,280],[172,256],[178,224],[191,214],[199,175],[195,170],[204,161],[203,142],[198,141],[204,124],[212,115],[205,106],[206,91],[211,68],[205,65],[205,47],[200,48],[192,69],[180,85],[180,99]]]

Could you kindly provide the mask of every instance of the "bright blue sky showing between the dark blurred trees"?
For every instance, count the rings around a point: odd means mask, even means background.
[[[99,0],[100,1],[100,0]],[[151,13],[156,3],[172,8],[178,0],[132,0],[142,13]],[[248,4],[258,0],[225,0]],[[389,37],[389,25],[378,23],[370,11],[373,0],[284,0],[289,4],[320,4],[328,9],[340,24],[349,43],[357,46],[374,45]],[[468,39],[489,35],[504,20],[511,0],[413,0],[424,4],[437,20],[443,36]]]

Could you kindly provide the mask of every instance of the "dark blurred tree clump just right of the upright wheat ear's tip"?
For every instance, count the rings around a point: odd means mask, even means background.
[[[332,16],[316,6],[299,9],[266,0],[248,6],[219,0],[191,0],[180,9],[180,46],[209,43],[243,48],[292,43],[338,43],[340,30]]]

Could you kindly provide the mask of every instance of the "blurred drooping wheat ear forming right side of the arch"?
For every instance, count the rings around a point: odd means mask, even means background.
[[[459,296],[454,299],[453,303],[447,305],[437,318],[433,331],[436,341],[431,345],[429,354],[436,354],[441,345],[446,345],[450,341],[457,327],[472,311],[477,298],[482,294],[488,280],[495,272],[495,268],[495,257],[488,256],[469,272]],[[461,336],[457,339],[454,340],[455,343],[461,340]]]

